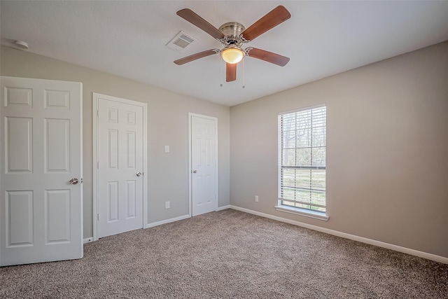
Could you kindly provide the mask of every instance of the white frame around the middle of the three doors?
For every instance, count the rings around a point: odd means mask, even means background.
[[[147,144],[147,128],[148,128],[148,104],[144,102],[132,101],[130,99],[123,99],[120,97],[113,97],[111,95],[102,95],[97,92],[92,92],[92,124],[93,124],[93,240],[98,239],[98,100],[106,99],[111,102],[119,102],[123,104],[130,104],[134,106],[143,107],[143,223],[142,228],[148,228],[148,144]]]

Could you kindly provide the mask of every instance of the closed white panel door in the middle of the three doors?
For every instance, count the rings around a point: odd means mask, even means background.
[[[97,237],[100,238],[144,227],[146,104],[99,94],[94,94],[94,101],[98,109]]]

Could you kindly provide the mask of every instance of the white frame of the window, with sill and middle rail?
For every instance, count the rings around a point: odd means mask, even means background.
[[[312,111],[313,109],[319,109],[319,108],[323,108],[325,107],[325,166],[302,166],[302,165],[295,165],[295,166],[286,166],[286,165],[282,165],[283,163],[283,120],[282,120],[282,116],[287,115],[287,114],[292,114],[292,113],[297,113],[297,112],[301,112],[301,111]],[[283,204],[283,198],[281,198],[281,190],[282,190],[282,169],[323,169],[325,170],[325,186],[326,186],[326,116],[327,116],[327,109],[326,109],[326,104],[318,104],[318,105],[314,105],[314,106],[307,106],[307,107],[302,107],[300,109],[294,109],[294,110],[290,110],[290,111],[284,111],[284,112],[280,112],[278,114],[277,120],[278,120],[278,127],[277,127],[277,132],[278,132],[278,174],[277,174],[277,178],[278,178],[278,183],[277,183],[277,188],[278,188],[278,192],[277,192],[277,197],[278,197],[278,203],[275,206],[275,209],[277,211],[283,211],[283,212],[287,212],[287,213],[292,213],[292,214],[297,214],[297,215],[301,215],[301,216],[307,216],[307,217],[311,217],[311,218],[317,218],[323,221],[328,221],[328,211],[327,211],[327,207],[326,207],[326,187],[325,187],[325,212],[324,211],[315,211],[312,209],[305,209],[305,208],[300,208],[300,207],[291,207],[287,204]],[[313,148],[314,146],[311,146],[310,148]],[[311,186],[309,186],[309,190],[311,192]]]

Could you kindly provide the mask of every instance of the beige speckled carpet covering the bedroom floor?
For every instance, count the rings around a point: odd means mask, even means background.
[[[0,298],[448,298],[448,265],[227,209],[1,267]]]

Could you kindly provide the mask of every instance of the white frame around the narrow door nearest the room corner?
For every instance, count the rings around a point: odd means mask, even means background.
[[[193,169],[191,167],[191,161],[192,161],[192,155],[193,155],[193,151],[192,151],[192,146],[193,146],[193,142],[191,140],[193,134],[191,132],[192,130],[192,123],[191,123],[191,119],[193,116],[199,117],[199,118],[205,118],[208,120],[214,120],[215,124],[216,124],[216,151],[215,151],[215,159],[216,159],[216,167],[215,167],[215,186],[216,186],[216,206],[215,206],[215,211],[218,210],[218,199],[219,199],[219,193],[218,193],[218,118],[214,117],[214,116],[204,116],[203,114],[197,114],[197,113],[192,113],[192,112],[188,112],[188,216],[192,217],[193,216],[193,180],[192,180],[192,172]]]

